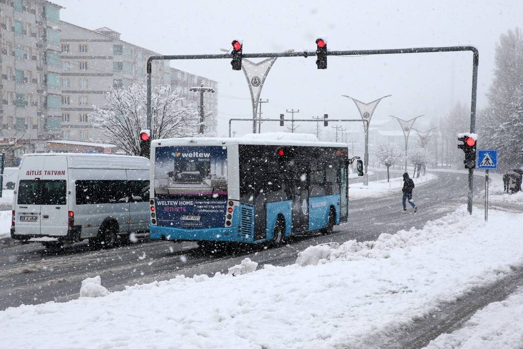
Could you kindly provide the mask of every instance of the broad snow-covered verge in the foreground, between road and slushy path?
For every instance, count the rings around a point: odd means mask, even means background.
[[[96,298],[1,311],[2,346],[376,347],[414,319],[509,275],[523,263],[514,229],[522,225],[520,214],[491,211],[484,222],[483,212],[460,207],[423,229],[310,247],[291,266],[177,276],[107,296],[95,286]],[[252,259],[232,270],[254,269]]]

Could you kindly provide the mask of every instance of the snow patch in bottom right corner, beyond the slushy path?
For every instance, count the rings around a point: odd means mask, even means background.
[[[430,341],[427,349],[520,349],[523,289],[476,312],[463,328]]]

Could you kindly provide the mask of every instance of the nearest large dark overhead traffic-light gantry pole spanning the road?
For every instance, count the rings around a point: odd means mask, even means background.
[[[448,47],[420,47],[405,49],[385,49],[385,50],[350,50],[350,51],[327,51],[327,56],[347,56],[347,55],[373,55],[373,54],[407,54],[407,53],[435,53],[435,52],[472,52],[472,96],[470,108],[470,132],[476,129],[476,96],[477,96],[477,66],[479,65],[480,53],[473,46],[448,46]],[[314,57],[316,51],[304,52],[269,52],[269,53],[246,53],[243,58],[277,58],[277,57]],[[180,55],[153,55],[147,58],[147,128],[151,129],[151,79],[153,71],[153,61],[156,60],[192,60],[192,59],[231,59],[229,54],[180,54]],[[255,119],[251,120],[255,124]],[[279,121],[279,119],[277,120]],[[297,120],[295,120],[297,121]],[[253,127],[256,131],[255,126]],[[367,159],[368,160],[368,159]],[[473,196],[473,174],[474,170],[469,169],[469,199],[468,209],[472,214]]]

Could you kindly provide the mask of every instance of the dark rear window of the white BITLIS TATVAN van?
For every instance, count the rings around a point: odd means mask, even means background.
[[[18,205],[66,205],[65,180],[22,180],[18,185]]]

